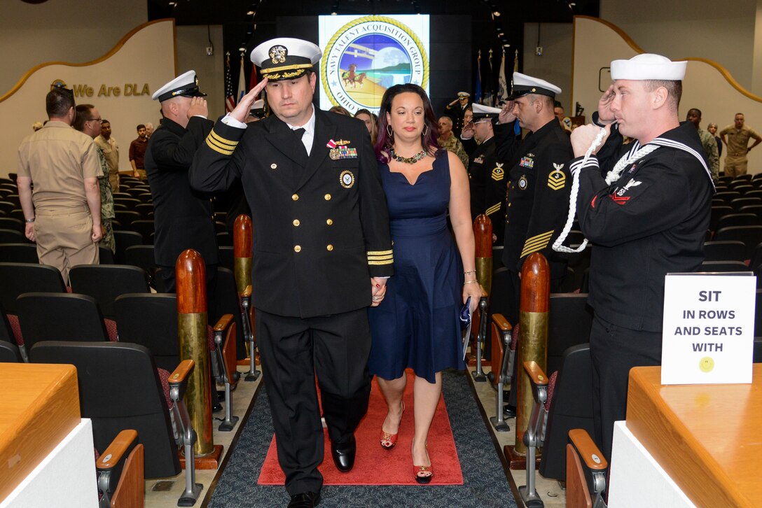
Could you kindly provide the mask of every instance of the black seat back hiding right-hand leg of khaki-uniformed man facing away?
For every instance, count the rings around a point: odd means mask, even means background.
[[[104,317],[116,319],[114,300],[128,292],[150,292],[146,271],[118,264],[82,264],[69,271],[72,292],[92,296]]]

